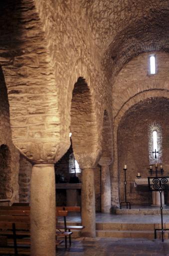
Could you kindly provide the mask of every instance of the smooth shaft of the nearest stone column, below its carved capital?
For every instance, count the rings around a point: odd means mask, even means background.
[[[31,256],[55,256],[56,206],[53,164],[34,164],[31,175]]]

